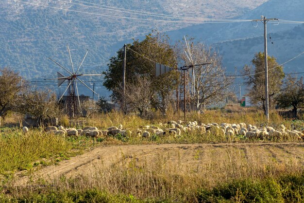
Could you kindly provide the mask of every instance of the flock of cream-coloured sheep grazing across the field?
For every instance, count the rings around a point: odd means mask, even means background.
[[[27,127],[23,127],[23,132],[29,131]],[[304,139],[303,131],[289,130],[284,125],[281,125],[279,129],[274,129],[272,127],[260,127],[246,125],[245,123],[240,124],[198,124],[194,122],[183,122],[181,120],[169,121],[166,124],[159,124],[158,126],[142,126],[132,132],[130,129],[123,129],[122,125],[118,127],[109,127],[108,129],[99,130],[96,127],[84,127],[83,129],[69,128],[66,129],[62,126],[58,128],[55,126],[45,128],[47,133],[53,133],[55,135],[61,136],[79,136],[85,135],[90,137],[104,137],[104,136],[115,136],[120,134],[121,136],[139,136],[144,138],[149,138],[152,135],[167,136],[171,135],[174,137],[181,136],[181,133],[185,132],[196,132],[203,135],[214,135],[226,138],[228,140],[233,140],[237,135],[242,136],[247,139],[280,139],[280,140],[298,140],[302,141]]]

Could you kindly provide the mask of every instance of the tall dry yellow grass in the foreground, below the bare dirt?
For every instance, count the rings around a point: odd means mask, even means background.
[[[198,149],[186,158],[182,149],[152,157],[122,154],[121,161],[110,168],[95,168],[89,175],[72,179],[61,177],[49,186],[60,193],[97,188],[111,194],[132,194],[139,199],[197,202],[196,192],[201,187],[210,189],[233,180],[260,181],[304,172],[303,154],[264,147],[266,150],[248,146]],[[22,189],[18,193],[25,195]]]

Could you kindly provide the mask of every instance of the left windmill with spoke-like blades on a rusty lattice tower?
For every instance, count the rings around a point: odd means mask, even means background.
[[[67,47],[68,47],[68,44],[67,44]],[[60,87],[66,80],[68,80],[68,87],[66,88],[65,92],[61,95],[61,97],[58,99],[58,102],[63,98],[64,94],[68,91],[67,110],[68,110],[68,115],[70,118],[79,114],[80,110],[81,110],[77,81],[82,83],[85,87],[87,87],[90,91],[92,91],[93,95],[94,95],[94,93],[97,94],[96,92],[94,92],[94,90],[92,90],[90,87],[88,87],[81,79],[78,78],[80,76],[102,75],[102,74],[79,74],[78,73],[79,69],[81,68],[81,66],[84,63],[84,59],[85,59],[88,51],[89,50],[86,50],[84,58],[83,58],[81,64],[79,65],[78,69],[76,70],[76,72],[74,70],[74,65],[73,65],[69,47],[68,47],[68,55],[69,55],[72,71],[69,71],[64,66],[62,66],[61,64],[59,64],[58,62],[56,62],[55,60],[53,60],[49,57],[55,64],[57,64],[59,67],[64,69],[69,74],[68,76],[64,76],[64,74],[57,72],[57,78],[50,78],[50,79],[45,79],[45,80],[58,80],[58,87]],[[75,92],[75,90],[76,90],[76,92]],[[77,96],[76,96],[76,93],[77,93]]]

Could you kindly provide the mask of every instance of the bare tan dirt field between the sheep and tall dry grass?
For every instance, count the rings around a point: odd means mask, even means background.
[[[304,143],[233,143],[233,144],[163,144],[108,146],[94,148],[70,160],[60,162],[57,166],[44,167],[33,175],[24,176],[24,171],[17,173],[16,185],[27,185],[32,181],[43,179],[52,181],[62,175],[75,177],[79,174],[90,175],[96,170],[107,170],[117,163],[137,165],[146,163],[154,165],[169,163],[178,173],[219,173],[227,168],[237,171],[267,170],[297,166],[304,167]],[[292,165],[290,163],[292,162]],[[242,168],[246,169],[242,169]],[[259,167],[259,168],[254,168]],[[232,170],[234,171],[234,170]],[[230,172],[231,173],[231,172]]]

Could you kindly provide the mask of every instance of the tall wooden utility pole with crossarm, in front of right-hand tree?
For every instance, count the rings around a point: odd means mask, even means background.
[[[268,62],[267,62],[267,22],[270,20],[279,20],[278,18],[266,18],[261,16],[262,19],[253,21],[261,21],[264,24],[264,56],[265,56],[265,115],[269,121],[269,92],[268,92]]]

